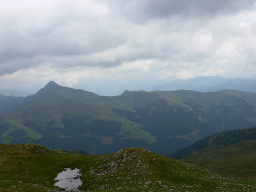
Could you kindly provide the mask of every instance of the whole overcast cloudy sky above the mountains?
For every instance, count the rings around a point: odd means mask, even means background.
[[[254,0],[0,0],[0,88],[114,96],[256,74]]]

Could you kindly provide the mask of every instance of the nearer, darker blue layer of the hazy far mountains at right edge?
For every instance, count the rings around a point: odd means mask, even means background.
[[[237,80],[230,80],[227,83],[210,87],[202,92],[219,91],[224,89],[256,93],[256,79],[241,78]]]

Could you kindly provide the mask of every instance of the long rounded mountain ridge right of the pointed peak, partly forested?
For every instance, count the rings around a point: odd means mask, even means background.
[[[147,126],[146,130],[151,132],[157,127],[152,134],[182,136],[198,130],[187,137],[197,140],[219,131],[256,124],[256,97],[248,92],[125,91],[116,100],[124,106],[133,106],[134,112],[119,110],[122,116]]]

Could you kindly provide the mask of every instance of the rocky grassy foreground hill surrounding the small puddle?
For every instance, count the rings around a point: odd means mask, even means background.
[[[40,145],[0,145],[0,190],[49,192],[64,168],[81,169],[81,191],[255,191],[255,182],[229,179],[142,148],[99,156],[67,154]]]

